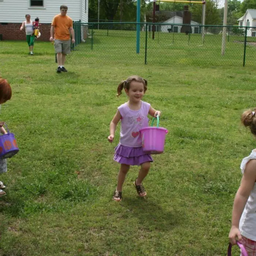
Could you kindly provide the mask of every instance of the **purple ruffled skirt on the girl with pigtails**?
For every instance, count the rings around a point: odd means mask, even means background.
[[[115,148],[114,161],[126,165],[141,165],[145,162],[153,162],[150,154],[145,153],[142,147],[128,147],[120,143]]]

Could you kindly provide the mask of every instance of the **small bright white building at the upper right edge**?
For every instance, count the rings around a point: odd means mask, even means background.
[[[247,9],[238,22],[239,27],[253,27],[247,30],[247,36],[256,37],[256,9]]]

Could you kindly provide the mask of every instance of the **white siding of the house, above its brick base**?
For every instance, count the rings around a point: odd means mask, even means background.
[[[26,14],[31,20],[38,17],[40,23],[52,23],[62,4],[67,5],[67,15],[73,21],[88,22],[88,0],[0,0],[0,23],[21,25]]]

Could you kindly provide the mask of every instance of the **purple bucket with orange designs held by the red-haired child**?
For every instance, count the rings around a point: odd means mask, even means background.
[[[13,133],[10,133],[7,125],[7,134],[0,136],[0,158],[10,158],[19,152],[19,148]]]

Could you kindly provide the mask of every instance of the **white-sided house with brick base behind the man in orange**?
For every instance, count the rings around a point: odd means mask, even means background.
[[[33,21],[39,17],[41,40],[49,40],[50,24],[60,13],[60,6],[68,6],[67,15],[73,21],[88,22],[89,0],[0,0],[0,35],[5,39],[24,39],[25,33],[19,31],[25,15],[30,14]],[[83,31],[81,31],[81,36]]]

